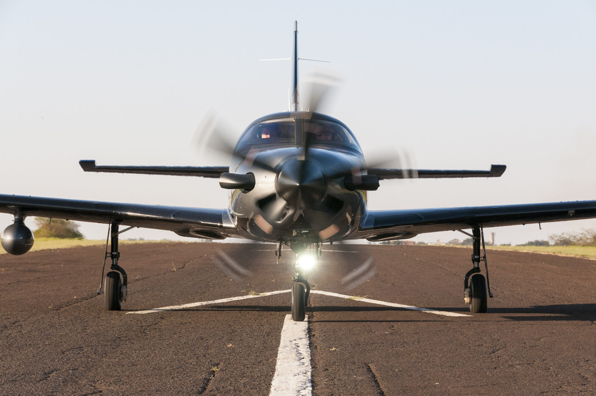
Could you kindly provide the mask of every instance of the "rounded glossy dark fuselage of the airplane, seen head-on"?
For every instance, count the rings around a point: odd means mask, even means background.
[[[348,190],[344,178],[365,169],[358,141],[339,120],[312,112],[261,117],[232,157],[229,171],[252,173],[255,184],[230,191],[231,221],[241,236],[263,242],[349,239],[366,215],[366,191]]]

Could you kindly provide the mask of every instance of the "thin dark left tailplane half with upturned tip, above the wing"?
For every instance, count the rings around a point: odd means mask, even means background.
[[[79,165],[85,172],[198,176],[210,178],[219,178],[219,175],[229,171],[228,166],[97,166],[95,165],[95,160],[80,160]]]

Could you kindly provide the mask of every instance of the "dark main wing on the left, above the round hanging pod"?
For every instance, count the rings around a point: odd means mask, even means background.
[[[0,194],[0,212],[169,230],[178,235],[225,239],[237,236],[226,209],[138,205]]]

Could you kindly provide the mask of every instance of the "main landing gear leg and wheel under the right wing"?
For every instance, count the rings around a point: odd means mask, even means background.
[[[461,231],[461,230],[460,230]],[[461,231],[464,233],[464,231]],[[468,233],[464,233],[470,235]],[[472,264],[474,267],[464,277],[464,301],[470,305],[470,312],[485,313],[488,309],[488,296],[492,298],[491,286],[488,280],[488,264],[486,264],[486,249],[484,242],[484,231],[476,226],[472,228]],[[482,242],[483,256],[480,257],[480,242]],[[480,261],[485,262],[486,279],[480,274]],[[469,284],[468,284],[469,280]]]

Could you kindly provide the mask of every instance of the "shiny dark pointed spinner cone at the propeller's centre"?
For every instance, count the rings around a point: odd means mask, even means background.
[[[313,160],[290,159],[281,166],[275,190],[294,208],[303,209],[322,201],[327,182],[321,165]]]

